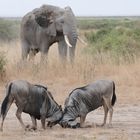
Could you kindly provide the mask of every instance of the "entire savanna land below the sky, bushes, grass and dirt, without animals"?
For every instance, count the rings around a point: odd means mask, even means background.
[[[59,62],[56,44],[50,48],[46,66],[40,65],[39,54],[35,63],[22,65],[20,19],[0,19],[0,104],[5,97],[5,85],[15,79],[47,85],[62,106],[73,89],[97,79],[112,79],[117,95],[113,127],[94,125],[92,128],[73,130],[56,125],[43,132],[23,132],[15,117],[16,107],[13,106],[8,112],[0,139],[140,139],[140,18],[77,19],[79,35],[88,45],[78,41],[75,63],[73,66],[68,63],[65,67]],[[24,115],[24,120],[30,124],[29,116]],[[89,114],[86,122],[101,124],[102,120],[101,108]]]

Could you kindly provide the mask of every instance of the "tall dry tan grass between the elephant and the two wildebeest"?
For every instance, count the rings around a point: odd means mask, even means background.
[[[50,48],[47,65],[40,65],[40,54],[38,54],[34,63],[28,62],[23,67],[20,60],[20,43],[3,44],[0,51],[6,54],[7,59],[7,76],[4,84],[15,79],[25,79],[33,83],[45,84],[50,87],[50,90],[54,91],[56,96],[62,97],[62,99],[58,99],[61,103],[64,102],[63,95],[68,94],[70,90],[97,79],[112,79],[118,87],[140,87],[140,60],[137,60],[134,64],[115,65],[110,61],[107,63],[107,59],[104,59],[106,63],[97,64],[93,57],[83,54],[82,49],[83,46],[78,44],[73,66],[68,63],[64,67],[61,64],[55,44]],[[62,96],[59,96],[61,94]]]

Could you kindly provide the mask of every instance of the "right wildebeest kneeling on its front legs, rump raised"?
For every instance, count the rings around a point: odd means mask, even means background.
[[[98,80],[87,86],[76,88],[65,100],[64,115],[60,125],[64,128],[84,127],[86,115],[100,106],[104,108],[104,122],[106,124],[108,111],[110,113],[109,125],[111,125],[113,108],[115,104],[115,84],[109,80]],[[80,124],[75,121],[80,117]]]

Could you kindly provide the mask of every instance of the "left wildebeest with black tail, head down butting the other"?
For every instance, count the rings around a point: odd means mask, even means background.
[[[47,87],[17,80],[10,82],[6,87],[6,97],[1,105],[1,131],[3,130],[4,119],[13,102],[16,103],[16,116],[24,130],[37,129],[36,119],[41,119],[42,128],[45,129],[46,118],[49,127],[58,123],[62,118],[62,108],[56,103]],[[21,118],[22,112],[30,115],[33,126],[24,125]]]

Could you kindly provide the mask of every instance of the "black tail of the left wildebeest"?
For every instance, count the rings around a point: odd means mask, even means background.
[[[12,83],[10,83],[8,85],[8,90],[6,91],[7,92],[6,97],[3,100],[2,105],[1,105],[1,115],[2,116],[5,116],[5,113],[6,113],[6,110],[7,110],[7,107],[8,107],[9,95],[10,95],[10,92],[11,92],[11,86],[12,86]]]

